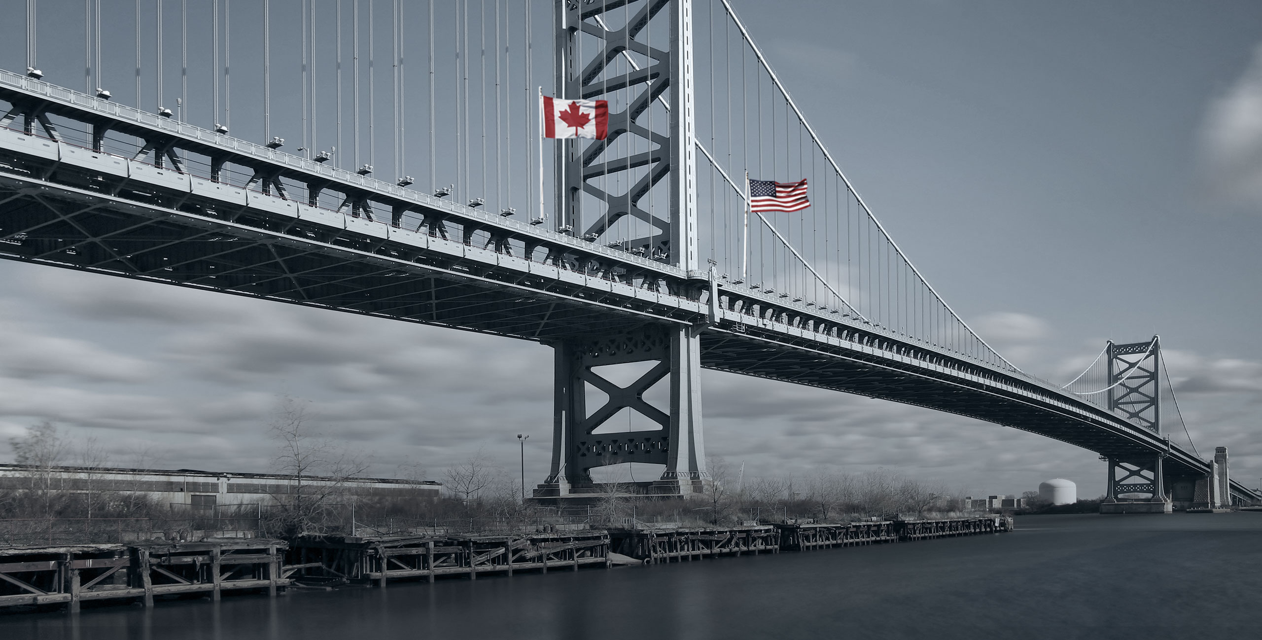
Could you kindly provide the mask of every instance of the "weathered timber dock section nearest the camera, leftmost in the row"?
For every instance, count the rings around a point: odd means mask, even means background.
[[[275,596],[285,543],[221,539],[191,543],[80,544],[0,549],[0,607],[136,600],[260,590]]]

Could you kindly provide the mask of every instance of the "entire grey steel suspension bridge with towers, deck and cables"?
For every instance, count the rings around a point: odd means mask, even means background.
[[[1171,442],[1156,337],[1058,385],[973,332],[727,0],[28,0],[24,37],[0,258],[549,345],[536,499],[628,462],[704,491],[703,367],[1076,444],[1132,511],[1257,497]],[[545,139],[543,95],[604,101],[604,135]]]

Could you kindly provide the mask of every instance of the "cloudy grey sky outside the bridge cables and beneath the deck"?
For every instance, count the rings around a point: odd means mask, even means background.
[[[1233,476],[1258,482],[1262,4],[733,4],[891,235],[1001,353],[1068,381],[1106,340],[1160,333],[1200,452],[1230,447]],[[3,56],[25,66],[20,43]],[[702,380],[708,452],[746,475],[1103,492],[1094,453],[1016,429]],[[0,436],[49,419],[120,466],[150,448],[169,468],[266,470],[289,394],[382,476],[442,480],[478,449],[515,475],[529,433],[533,485],[550,382],[534,343],[0,261]]]

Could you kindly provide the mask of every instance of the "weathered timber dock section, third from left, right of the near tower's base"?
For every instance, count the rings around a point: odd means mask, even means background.
[[[703,529],[611,529],[613,550],[649,564],[718,555],[780,553],[780,533],[771,525]]]

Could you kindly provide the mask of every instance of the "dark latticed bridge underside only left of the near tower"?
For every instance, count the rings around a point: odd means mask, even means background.
[[[8,239],[0,251],[27,261],[539,341],[660,323],[610,313],[589,290],[565,283],[524,290],[514,284],[535,284],[529,274],[492,279],[458,256],[419,264],[404,256],[410,268],[374,264],[358,252],[360,241],[319,225],[288,230],[312,242],[289,241],[9,177],[0,177],[0,237]]]

